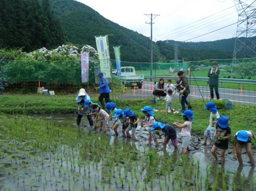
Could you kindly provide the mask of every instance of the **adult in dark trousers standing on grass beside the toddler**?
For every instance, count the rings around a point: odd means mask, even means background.
[[[182,106],[182,113],[183,113],[186,110],[185,104],[187,105],[187,109],[191,110],[191,108],[192,108],[190,103],[186,99],[190,93],[189,80],[184,75],[184,71],[178,71],[177,75],[181,80],[181,83],[179,85],[181,86],[180,96],[181,96],[181,106]]]

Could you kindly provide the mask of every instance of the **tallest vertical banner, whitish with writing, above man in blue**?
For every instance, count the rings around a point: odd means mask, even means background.
[[[111,78],[107,35],[95,38],[97,51],[99,54],[100,71],[104,73],[106,78]]]

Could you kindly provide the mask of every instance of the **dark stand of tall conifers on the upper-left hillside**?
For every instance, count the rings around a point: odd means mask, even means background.
[[[66,42],[48,0],[1,0],[0,7],[0,48],[32,51]]]

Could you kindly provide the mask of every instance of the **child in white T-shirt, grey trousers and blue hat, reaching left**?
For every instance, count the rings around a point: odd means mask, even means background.
[[[185,110],[181,115],[183,115],[184,123],[174,122],[173,125],[181,129],[182,135],[182,152],[186,154],[187,151],[190,151],[189,143],[191,139],[191,129],[192,121],[194,120],[193,112],[191,110]]]

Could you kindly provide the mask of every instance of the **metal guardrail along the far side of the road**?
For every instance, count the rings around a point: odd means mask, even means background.
[[[177,79],[179,79],[178,77],[173,77],[173,76],[144,76],[144,79],[150,79],[150,81],[155,81],[158,82],[158,80],[160,78],[163,79],[174,79],[175,81]],[[203,77],[189,77],[189,80],[192,81],[205,81],[206,85],[207,85],[207,81],[208,81],[208,77],[207,78],[203,78]],[[256,80],[253,79],[233,79],[233,78],[219,78],[219,82],[221,83],[221,86],[223,86],[223,83],[234,83],[234,84],[238,84],[238,87],[241,87],[241,84],[249,84],[249,85],[256,85]]]

